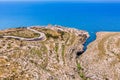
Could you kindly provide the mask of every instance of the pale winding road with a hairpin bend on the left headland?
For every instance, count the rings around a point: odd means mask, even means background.
[[[30,27],[27,27],[28,30],[38,33],[40,36],[37,38],[23,38],[23,37],[18,37],[18,36],[3,36],[3,38],[14,38],[14,39],[19,39],[19,40],[26,40],[26,41],[36,41],[36,40],[46,40],[46,36],[44,33],[39,32],[37,30],[31,29]]]

